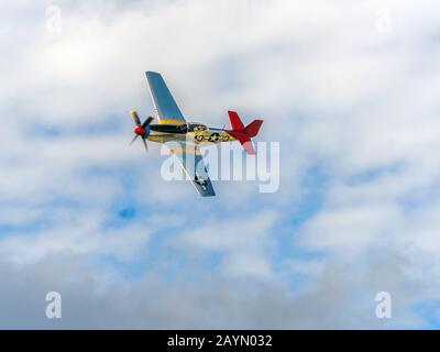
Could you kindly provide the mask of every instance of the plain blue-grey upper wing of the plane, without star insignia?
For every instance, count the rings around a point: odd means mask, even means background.
[[[146,72],[145,75],[160,123],[186,123],[185,118],[177,107],[177,103],[166,86],[164,78],[162,78],[162,75],[153,72]]]

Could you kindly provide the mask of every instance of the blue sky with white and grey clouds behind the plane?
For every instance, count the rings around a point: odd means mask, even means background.
[[[2,1],[0,328],[440,327],[439,13]],[[128,145],[128,111],[153,112],[145,70],[188,120],[262,118],[278,191],[163,180],[160,147]]]

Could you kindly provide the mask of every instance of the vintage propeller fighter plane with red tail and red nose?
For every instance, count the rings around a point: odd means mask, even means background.
[[[209,128],[199,122],[187,122],[162,75],[154,72],[146,72],[145,75],[158,117],[158,123],[152,124],[154,120],[152,116],[142,123],[136,110],[131,110],[130,114],[133,118],[135,128],[133,130],[134,138],[130,144],[141,138],[147,151],[146,140],[165,143],[165,145],[173,142],[173,147],[169,148],[170,152],[178,158],[200,196],[216,196],[199,147],[221,142],[239,141],[248,154],[255,154],[251,139],[258,133],[263,120],[254,120],[244,127],[235,111],[228,111],[231,122],[230,130]]]

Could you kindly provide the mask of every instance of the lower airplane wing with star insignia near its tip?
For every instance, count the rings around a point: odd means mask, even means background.
[[[183,169],[188,175],[200,196],[216,196],[204,163],[204,157],[197,145],[188,141],[174,141],[173,147],[169,147],[169,150],[180,162]]]

